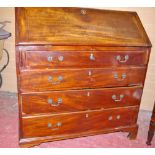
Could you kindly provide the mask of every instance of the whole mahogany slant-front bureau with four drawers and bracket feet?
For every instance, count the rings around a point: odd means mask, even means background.
[[[19,144],[128,132],[151,43],[135,12],[16,8]]]

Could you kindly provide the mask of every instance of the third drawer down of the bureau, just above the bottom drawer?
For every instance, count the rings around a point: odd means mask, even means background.
[[[23,114],[73,112],[140,104],[141,87],[22,94]]]

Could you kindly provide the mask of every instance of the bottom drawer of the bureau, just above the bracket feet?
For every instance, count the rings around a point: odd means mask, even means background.
[[[24,117],[22,137],[61,136],[128,126],[136,123],[137,115],[138,108],[131,107]]]

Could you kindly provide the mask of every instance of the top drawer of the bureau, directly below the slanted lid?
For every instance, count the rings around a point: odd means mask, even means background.
[[[103,67],[146,65],[145,51],[26,51],[27,68]]]

